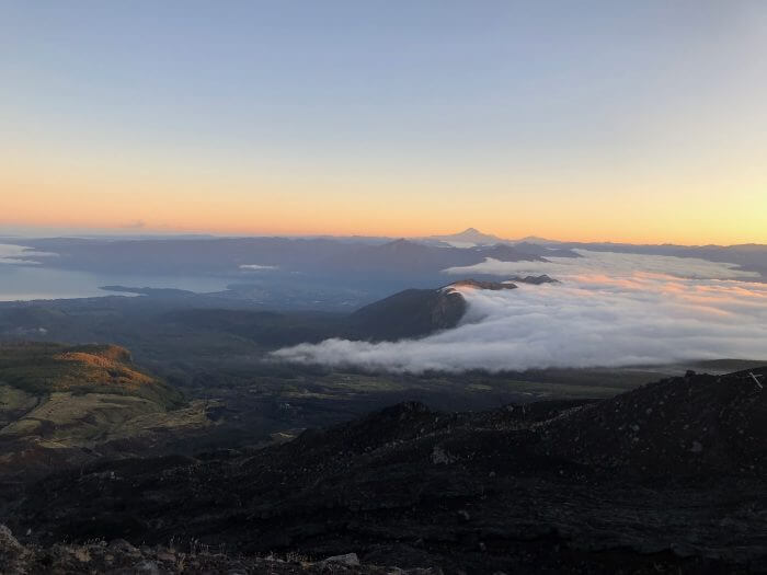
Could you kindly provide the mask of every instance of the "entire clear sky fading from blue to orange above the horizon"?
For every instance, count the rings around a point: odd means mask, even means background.
[[[767,243],[767,2],[0,2],[0,232]]]

